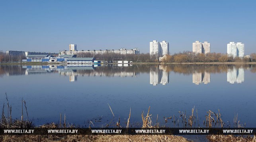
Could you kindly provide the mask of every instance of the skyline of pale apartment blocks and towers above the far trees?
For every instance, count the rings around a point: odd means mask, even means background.
[[[156,45],[154,45],[154,44],[157,45],[157,49],[155,49]],[[233,48],[234,49],[237,48],[237,51],[235,51]],[[64,54],[74,54],[74,53],[78,53],[78,52],[79,53],[80,52],[81,53],[87,53],[88,52],[88,53],[92,54],[92,52],[95,52],[95,51],[97,51],[97,52],[104,52],[104,53],[105,52],[119,53],[119,50],[120,51],[127,50],[126,54],[140,54],[139,48],[131,49],[131,51],[128,50],[128,48],[120,48],[118,50],[116,50],[116,49],[115,50],[114,49],[111,49],[111,50],[110,49],[106,49],[106,50],[101,50],[101,49],[99,49],[99,50],[77,50],[77,44],[69,44],[69,48],[68,49],[69,50],[65,50],[65,49],[62,50],[62,51],[59,50],[59,53],[61,55],[64,55]],[[153,51],[153,50],[157,50],[157,51]],[[0,51],[2,51],[2,50],[0,50]],[[2,51],[2,52],[4,52],[4,51]],[[19,51],[6,50],[6,52],[4,52],[4,53],[9,54],[9,52],[17,52],[17,53],[18,52],[25,52],[26,56],[27,56],[27,52],[33,53],[34,51],[32,51],[32,52],[31,51],[27,51],[26,52],[26,51],[20,51],[20,50]],[[132,52],[132,53],[130,53],[130,52]],[[160,54],[158,52],[160,52]],[[207,41],[199,42],[197,40],[197,41],[192,43],[192,51],[188,50],[188,52],[194,52],[195,54],[199,54],[199,53],[208,54],[208,53],[211,53],[211,43],[209,43]],[[39,51],[39,52],[35,52],[35,53],[46,53],[46,52]],[[47,53],[49,53],[49,52],[47,52]],[[146,52],[145,54],[147,54],[147,53],[149,53],[150,55],[151,54],[158,54],[158,56],[160,56],[160,57],[162,57],[162,56],[164,56],[166,54],[170,55],[170,52],[169,52],[169,42],[166,42],[165,40],[163,40],[162,42],[157,42],[157,40],[153,40],[153,42],[150,42],[150,50],[149,50],[149,52]],[[18,53],[18,54],[20,54],[20,53]],[[120,54],[125,54],[125,53],[123,53],[123,51],[122,51],[122,52],[120,52]],[[227,44],[227,52],[226,53],[222,53],[222,54],[228,54],[229,56],[234,56],[234,58],[236,56],[238,56],[240,58],[244,58],[244,56],[245,56],[244,55],[244,43],[242,43],[242,42],[237,42],[237,43],[229,42]],[[248,55],[250,55],[250,54],[252,54],[252,53],[249,53]]]

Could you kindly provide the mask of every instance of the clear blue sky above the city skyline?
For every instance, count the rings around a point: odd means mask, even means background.
[[[256,52],[255,0],[0,0],[0,50],[59,52],[139,48],[166,40],[170,53],[192,51],[195,40],[211,52],[242,42]]]

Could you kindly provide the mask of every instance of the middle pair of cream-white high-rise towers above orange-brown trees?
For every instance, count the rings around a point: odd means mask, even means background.
[[[199,42],[198,40],[193,42],[193,52],[195,54],[204,53],[208,54],[211,53],[211,43],[205,41],[205,42]]]

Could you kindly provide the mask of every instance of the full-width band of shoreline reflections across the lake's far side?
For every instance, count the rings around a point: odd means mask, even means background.
[[[0,76],[59,73],[74,82],[78,76],[137,77],[140,73],[149,73],[150,84],[156,86],[168,84],[170,72],[192,75],[192,82],[197,85],[210,83],[211,73],[227,73],[227,82],[234,84],[244,82],[244,70],[256,72],[256,65],[127,65],[3,65]]]

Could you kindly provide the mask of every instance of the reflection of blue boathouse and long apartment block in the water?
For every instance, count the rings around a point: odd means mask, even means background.
[[[22,66],[25,75],[41,73],[59,73],[68,76],[70,82],[77,81],[78,76],[106,76],[106,77],[136,77],[139,72],[132,71],[128,66],[101,67],[100,64],[71,64],[71,65],[30,65]]]

